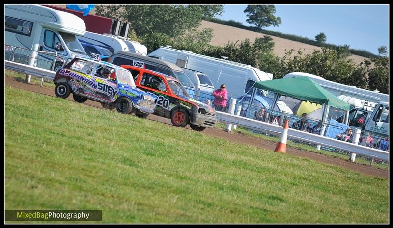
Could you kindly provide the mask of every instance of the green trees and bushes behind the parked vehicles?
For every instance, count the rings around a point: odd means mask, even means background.
[[[270,16],[275,12],[271,6],[256,9],[248,7],[246,10],[248,14],[255,14],[263,9],[268,10]],[[148,52],[160,46],[170,45],[175,49],[217,58],[226,56],[228,60],[249,64],[272,73],[275,79],[282,78],[290,72],[307,72],[338,83],[389,93],[389,58],[386,56],[386,50],[385,53],[378,50],[385,56],[373,55],[356,64],[352,59],[346,58],[352,53],[348,45],[336,48],[322,46],[322,50],[314,50],[306,55],[301,50],[286,50],[282,58],[274,54],[274,42],[270,36],[256,38],[253,42],[246,39],[228,42],[222,47],[213,46],[209,44],[213,37],[212,30],[197,28],[202,20],[216,20],[214,17],[221,15],[223,11],[223,5],[96,6],[97,15],[129,21],[133,29],[130,38],[144,44]],[[272,20],[271,25],[278,26],[281,23],[279,17],[269,18]],[[255,23],[263,25],[263,21],[258,22],[255,17],[252,19]],[[319,34],[316,40],[321,42],[326,39],[323,35]]]

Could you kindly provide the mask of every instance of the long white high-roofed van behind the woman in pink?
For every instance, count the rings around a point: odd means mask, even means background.
[[[200,71],[210,78],[215,88],[225,84],[228,95],[236,98],[251,93],[255,82],[273,79],[273,74],[263,72],[250,65],[196,54],[191,51],[161,46],[147,56],[172,62],[179,67]]]

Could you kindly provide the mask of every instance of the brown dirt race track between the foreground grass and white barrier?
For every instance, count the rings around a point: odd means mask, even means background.
[[[28,90],[28,91],[32,91],[32,92],[55,97],[55,92],[53,89],[40,87],[40,86],[36,86],[36,85],[32,85],[32,84],[27,84],[24,82],[18,82],[18,81],[11,80],[9,78],[5,78],[4,82],[5,82],[6,86],[12,86],[12,87],[16,87],[16,88],[20,88],[20,89],[24,89],[24,90]],[[72,96],[69,96],[67,98],[67,100],[74,101],[72,99]],[[87,100],[84,104],[94,106],[97,108],[102,108],[101,104],[98,102],[95,102],[95,101]],[[160,116],[149,115],[147,117],[147,119],[162,122],[164,124],[168,124],[168,125],[172,126],[169,119],[166,119],[166,118],[163,118]],[[185,129],[191,130],[190,126],[188,126],[188,125],[185,127]],[[210,129],[206,128],[202,133],[208,134],[208,135],[211,135],[211,136],[214,136],[217,138],[223,138],[223,139],[226,139],[231,142],[238,142],[238,143],[253,145],[258,148],[268,149],[268,150],[272,150],[272,151],[274,151],[274,149],[276,147],[276,143],[273,143],[273,142],[264,141],[260,138],[244,136],[243,134],[239,134],[239,133],[233,133],[233,132],[227,133],[221,129],[216,129],[216,128],[210,128]],[[356,172],[359,172],[359,173],[362,173],[365,175],[382,177],[382,178],[389,177],[388,170],[378,169],[378,168],[372,167],[370,165],[352,163],[350,161],[343,160],[340,158],[329,157],[329,156],[314,153],[314,152],[305,152],[305,151],[301,151],[301,150],[289,148],[289,147],[286,148],[286,152],[287,152],[287,154],[292,155],[292,156],[306,157],[306,158],[320,161],[320,162],[324,162],[327,164],[340,166],[340,167],[343,167],[343,168],[346,168],[349,170],[353,170],[353,171],[356,171]]]

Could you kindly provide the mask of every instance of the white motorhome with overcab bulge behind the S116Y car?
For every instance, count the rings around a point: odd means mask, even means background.
[[[35,51],[57,52],[64,61],[86,55],[76,39],[86,32],[84,21],[67,12],[41,5],[5,5],[4,30],[6,45],[28,50],[38,45]]]

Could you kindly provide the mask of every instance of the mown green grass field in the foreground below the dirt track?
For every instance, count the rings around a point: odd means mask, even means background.
[[[7,210],[98,209],[102,223],[388,223],[388,185],[5,86]]]

